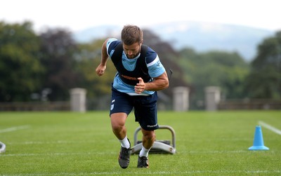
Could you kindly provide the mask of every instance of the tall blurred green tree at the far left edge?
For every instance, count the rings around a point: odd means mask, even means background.
[[[0,22],[0,102],[28,101],[41,88],[39,46],[31,22]]]

